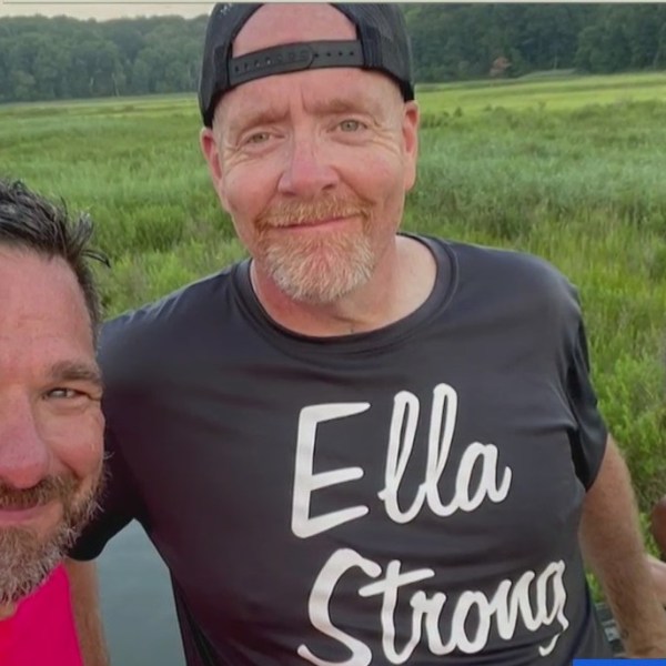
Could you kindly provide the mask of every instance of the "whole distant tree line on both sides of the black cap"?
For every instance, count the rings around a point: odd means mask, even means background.
[[[666,69],[666,4],[402,6],[418,82]],[[0,102],[196,90],[206,17],[0,19]]]

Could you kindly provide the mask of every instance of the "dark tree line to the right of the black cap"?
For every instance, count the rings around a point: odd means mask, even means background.
[[[666,4],[404,4],[417,81],[666,69]]]

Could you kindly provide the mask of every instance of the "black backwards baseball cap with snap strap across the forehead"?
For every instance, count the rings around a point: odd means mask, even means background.
[[[412,53],[402,12],[395,4],[332,4],[356,27],[356,40],[302,41],[232,58],[232,44],[262,4],[215,4],[209,19],[199,107],[211,127],[220,98],[236,85],[305,69],[359,67],[389,74],[405,101],[414,99]]]

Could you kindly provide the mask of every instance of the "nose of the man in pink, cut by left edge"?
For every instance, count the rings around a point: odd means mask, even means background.
[[[49,458],[29,401],[7,401],[0,410],[0,480],[31,488],[48,475]]]

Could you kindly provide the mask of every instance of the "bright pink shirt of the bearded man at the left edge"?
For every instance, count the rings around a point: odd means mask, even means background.
[[[0,620],[1,666],[83,666],[64,567]]]

